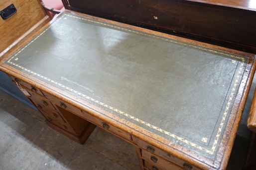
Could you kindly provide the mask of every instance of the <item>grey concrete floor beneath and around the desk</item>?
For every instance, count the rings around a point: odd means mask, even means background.
[[[242,170],[250,131],[246,122],[255,81],[228,170]],[[38,111],[0,91],[0,170],[139,170],[135,148],[96,128],[84,145],[52,130]]]

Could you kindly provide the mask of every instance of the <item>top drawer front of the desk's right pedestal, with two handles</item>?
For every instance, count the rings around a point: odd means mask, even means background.
[[[142,151],[147,151],[148,153],[154,154],[154,155],[158,155],[161,158],[164,158],[165,160],[178,165],[179,167],[186,167],[187,169],[185,170],[190,170],[190,167],[192,170],[200,170],[197,167],[192,166],[190,163],[184,162],[183,160],[180,160],[174,156],[172,156],[171,154],[164,152],[163,150],[154,147],[152,145],[149,145],[148,143],[138,139],[138,138],[134,138],[135,139],[135,143],[142,149]]]

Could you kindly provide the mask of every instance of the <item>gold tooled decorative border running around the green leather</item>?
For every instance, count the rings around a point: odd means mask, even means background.
[[[94,98],[91,98],[91,97],[89,97],[89,96],[87,96],[87,95],[85,95],[85,94],[83,94],[83,93],[80,93],[80,92],[78,92],[78,91],[76,91],[76,90],[74,90],[74,89],[72,89],[72,88],[69,88],[69,87],[67,87],[67,86],[65,86],[65,85],[63,85],[63,84],[61,84],[61,83],[58,83],[58,82],[56,82],[56,81],[54,81],[54,80],[51,80],[51,79],[49,79],[49,78],[47,78],[47,77],[44,77],[43,75],[40,75],[40,74],[38,74],[38,73],[36,73],[36,72],[33,72],[33,71],[31,71],[31,70],[29,70],[29,69],[27,69],[27,68],[22,67],[22,66],[20,66],[20,65],[18,65],[18,64],[16,64],[16,63],[11,62],[11,60],[12,60],[14,57],[16,57],[20,52],[22,52],[25,48],[27,48],[27,47],[28,47],[31,43],[33,43],[38,37],[40,37],[42,34],[44,34],[50,27],[52,27],[55,23],[57,23],[57,21],[58,21],[59,19],[65,17],[65,16],[69,16],[69,17],[73,17],[73,18],[85,20],[85,21],[88,21],[88,22],[92,22],[92,23],[96,23],[96,24],[100,24],[100,25],[104,25],[104,26],[116,28],[116,29],[118,29],[118,30],[123,30],[123,31],[135,33],[135,34],[140,34],[140,35],[144,35],[144,36],[148,36],[148,37],[152,37],[152,38],[156,38],[156,39],[168,41],[168,42],[175,43],[175,44],[179,44],[179,45],[184,45],[184,46],[187,46],[187,47],[192,47],[192,48],[200,49],[200,50],[202,50],[202,51],[208,51],[208,52],[211,52],[211,53],[215,53],[215,54],[219,54],[219,55],[223,55],[223,56],[227,56],[227,57],[232,57],[232,58],[240,59],[242,62],[241,62],[241,65],[240,65],[240,68],[239,68],[239,71],[238,71],[238,75],[237,75],[237,77],[236,77],[235,84],[234,84],[234,86],[233,86],[233,88],[232,88],[232,90],[231,90],[231,95],[230,95],[230,97],[229,97],[227,106],[226,106],[226,108],[225,108],[225,112],[224,112],[224,114],[223,114],[223,116],[222,116],[222,120],[221,120],[221,123],[220,123],[220,125],[219,125],[218,132],[217,132],[217,134],[216,134],[216,136],[215,136],[215,139],[214,139],[213,146],[212,146],[211,150],[208,150],[208,149],[206,149],[206,148],[203,148],[203,147],[201,147],[201,146],[199,146],[199,145],[197,145],[197,144],[195,144],[195,143],[193,143],[193,142],[190,142],[190,141],[188,141],[188,140],[186,140],[186,139],[184,139],[184,138],[182,138],[182,137],[179,137],[179,136],[177,136],[177,135],[175,135],[175,134],[173,134],[173,133],[171,133],[171,132],[168,132],[168,131],[166,131],[166,130],[164,130],[164,129],[161,129],[161,128],[157,127],[157,126],[154,126],[154,125],[152,125],[152,124],[150,124],[150,123],[147,123],[147,122],[145,122],[145,121],[143,121],[143,120],[141,120],[141,119],[138,119],[138,118],[136,118],[136,117],[134,117],[134,116],[132,116],[132,115],[129,115],[128,113],[122,112],[122,111],[120,111],[120,110],[118,110],[118,109],[116,109],[116,108],[114,108],[114,107],[111,107],[111,106],[109,106],[109,105],[107,105],[107,104],[105,104],[105,103],[103,103],[103,102],[100,102],[100,101],[98,101],[98,100],[96,100],[96,99],[94,99]],[[64,19],[65,19],[65,18],[64,18]],[[199,46],[192,45],[192,44],[186,44],[186,43],[179,42],[179,41],[175,41],[175,40],[172,40],[172,39],[168,39],[168,38],[164,38],[164,37],[159,37],[159,36],[155,36],[155,35],[151,35],[151,34],[146,34],[146,33],[143,33],[143,32],[139,32],[139,31],[135,31],[135,30],[130,30],[130,29],[127,29],[127,28],[124,28],[124,27],[120,27],[120,26],[117,26],[117,25],[112,25],[112,24],[109,24],[109,23],[104,23],[104,22],[100,22],[100,21],[97,21],[97,20],[92,20],[92,19],[88,19],[88,18],[83,18],[83,17],[79,17],[79,16],[76,16],[76,15],[66,14],[66,13],[63,14],[60,18],[58,18],[58,20],[56,20],[55,22],[53,22],[49,27],[47,27],[44,31],[42,31],[40,34],[38,34],[38,35],[37,35],[32,41],[30,41],[26,46],[24,46],[24,47],[23,47],[22,49],[20,49],[17,53],[15,53],[12,57],[10,57],[10,59],[9,59],[7,62],[10,63],[10,64],[12,64],[12,65],[14,65],[14,66],[16,66],[16,67],[18,67],[18,68],[20,68],[20,69],[25,70],[25,71],[27,71],[27,72],[29,72],[29,73],[31,73],[31,74],[34,74],[34,75],[36,75],[36,76],[38,76],[38,77],[40,77],[40,78],[42,78],[42,79],[45,79],[45,80],[47,80],[47,81],[49,81],[49,82],[51,82],[51,83],[54,83],[54,84],[56,84],[56,85],[58,85],[58,86],[60,86],[60,87],[62,87],[62,88],[64,88],[64,89],[66,89],[66,90],[69,90],[69,91],[71,91],[71,92],[73,92],[73,93],[75,93],[75,94],[77,94],[77,95],[79,95],[79,96],[81,96],[81,97],[83,97],[83,98],[86,98],[86,99],[88,99],[88,100],[90,100],[90,101],[92,101],[92,102],[95,102],[95,103],[97,103],[97,104],[99,104],[99,105],[101,105],[101,106],[103,106],[103,107],[105,107],[105,108],[108,108],[108,109],[110,109],[110,110],[112,110],[112,111],[114,111],[114,112],[116,112],[116,113],[122,114],[122,115],[124,115],[124,116],[126,116],[126,117],[128,117],[128,118],[130,118],[130,119],[132,119],[132,120],[135,120],[135,121],[137,121],[137,122],[139,122],[139,123],[141,123],[141,124],[144,124],[144,125],[146,125],[146,126],[148,126],[148,127],[150,127],[150,128],[153,128],[153,129],[155,129],[155,130],[157,130],[157,131],[159,131],[159,132],[161,132],[161,133],[164,133],[164,134],[166,134],[166,135],[168,135],[168,136],[171,136],[171,137],[173,137],[174,139],[177,139],[177,140],[179,140],[179,141],[181,141],[181,142],[183,142],[183,143],[185,143],[185,144],[187,144],[187,145],[190,145],[190,146],[192,146],[192,147],[195,147],[195,148],[197,148],[197,149],[199,149],[199,150],[201,150],[201,151],[204,151],[204,152],[206,152],[206,153],[208,153],[208,154],[211,154],[211,155],[214,153],[214,151],[216,150],[217,143],[218,143],[218,140],[219,140],[219,138],[220,138],[220,134],[221,134],[221,132],[222,132],[222,129],[223,129],[223,126],[224,126],[224,123],[225,123],[225,120],[226,120],[228,111],[229,111],[229,109],[230,109],[231,102],[232,102],[233,97],[234,97],[234,95],[235,95],[236,88],[237,88],[237,86],[238,86],[238,81],[239,81],[240,75],[241,75],[241,73],[242,73],[242,68],[243,68],[244,63],[245,63],[245,58],[244,58],[244,57],[239,57],[239,56],[236,56],[236,55],[232,55],[232,54],[228,54],[228,53],[223,53],[223,52],[220,52],[220,51],[216,51],[216,50],[212,50],[212,49],[208,49],[208,48],[204,48],[204,47],[199,47]]]

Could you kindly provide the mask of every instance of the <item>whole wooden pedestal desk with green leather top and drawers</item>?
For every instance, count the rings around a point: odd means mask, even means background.
[[[255,55],[66,10],[0,70],[81,144],[97,125],[136,147],[141,170],[224,170]]]

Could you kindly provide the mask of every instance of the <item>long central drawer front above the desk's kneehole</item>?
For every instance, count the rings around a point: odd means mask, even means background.
[[[131,138],[131,135],[128,133],[128,132],[125,132],[117,127],[114,127],[106,122],[104,122],[103,120],[101,120],[100,118],[97,118],[85,111],[81,111],[80,109],[68,104],[68,103],[65,103],[59,99],[57,99],[56,97],[52,96],[52,95],[49,95],[49,94],[46,94],[47,98],[53,102],[55,105],[57,106],[60,106],[61,108],[65,109],[65,110],[68,110],[80,117],[83,117],[84,119],[90,121],[91,123],[97,125],[97,126],[100,126],[104,129],[106,129],[107,131],[119,136],[119,137],[122,137],[123,139],[127,140],[128,142],[130,142],[132,140]]]

